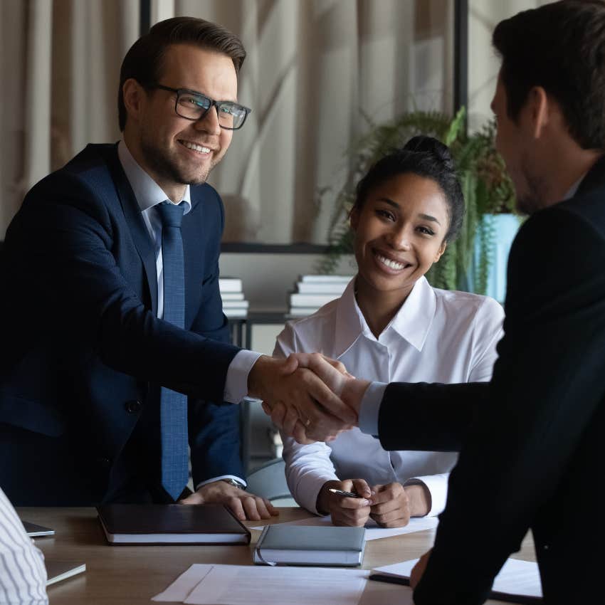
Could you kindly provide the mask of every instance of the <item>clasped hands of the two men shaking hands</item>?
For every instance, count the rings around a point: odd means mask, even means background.
[[[368,385],[320,353],[263,355],[248,375],[248,394],[262,399],[265,414],[298,443],[332,441],[357,426]]]

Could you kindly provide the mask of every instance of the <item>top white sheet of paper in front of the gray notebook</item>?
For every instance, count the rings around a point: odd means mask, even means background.
[[[365,569],[214,565],[191,591],[191,605],[357,605]]]

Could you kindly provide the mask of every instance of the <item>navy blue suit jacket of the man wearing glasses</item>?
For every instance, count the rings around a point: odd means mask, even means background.
[[[57,463],[63,488],[49,496],[53,503],[103,498],[159,384],[190,395],[194,483],[241,476],[238,406],[209,403],[222,401],[238,352],[218,285],[223,206],[207,184],[191,186],[191,204],[181,227],[186,330],[156,316],[152,242],[116,145],[88,145],[36,184],[9,226],[0,265],[0,425],[5,442],[36,433],[81,461],[80,476],[64,481],[68,471]],[[1,466],[14,503],[27,491],[35,498],[27,486],[41,477],[23,476],[19,459]]]

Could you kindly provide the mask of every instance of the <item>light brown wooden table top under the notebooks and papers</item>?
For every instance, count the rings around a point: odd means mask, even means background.
[[[93,508],[18,509],[19,516],[52,527],[53,537],[36,538],[36,545],[49,560],[73,560],[86,564],[86,572],[48,587],[51,605],[142,605],[159,594],[193,563],[252,564],[252,548],[259,532],[247,546],[108,546]],[[308,517],[299,508],[280,508],[272,522]],[[246,525],[264,525],[248,521]],[[414,559],[433,543],[435,530],[370,540],[362,567]],[[525,537],[518,559],[535,560],[530,536]],[[359,605],[396,605],[401,587],[368,582]],[[288,599],[285,598],[284,603]],[[497,604],[500,601],[487,601]],[[324,604],[314,604],[324,605]],[[325,604],[325,605],[328,605]]]

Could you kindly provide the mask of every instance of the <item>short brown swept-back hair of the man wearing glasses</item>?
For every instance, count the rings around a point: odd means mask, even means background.
[[[140,85],[151,87],[158,83],[162,74],[164,56],[171,44],[193,44],[207,51],[216,51],[233,61],[239,73],[246,50],[241,40],[223,26],[195,17],[174,17],[159,21],[141,36],[126,53],[120,69],[120,88],[117,90],[117,113],[120,130],[126,125],[126,107],[122,88],[129,78]]]

